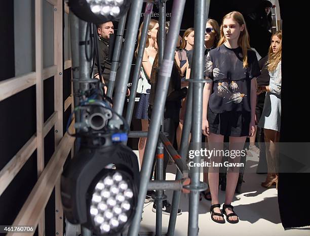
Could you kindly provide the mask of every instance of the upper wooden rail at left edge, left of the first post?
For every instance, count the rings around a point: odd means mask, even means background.
[[[5,100],[14,94],[19,93],[35,85],[35,72],[30,72],[21,76],[8,78],[0,82],[0,101]]]

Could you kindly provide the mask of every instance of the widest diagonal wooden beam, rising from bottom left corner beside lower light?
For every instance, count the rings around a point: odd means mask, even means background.
[[[71,123],[69,130],[73,131],[74,122]],[[32,191],[30,192],[25,204],[18,213],[12,225],[37,225],[44,209],[50,199],[50,195],[54,186],[59,179],[63,165],[67,159],[70,148],[74,142],[74,137],[66,133],[61,139],[57,149],[52,155],[51,160],[42,172],[40,178],[37,180]],[[57,209],[57,208],[56,208]],[[33,235],[34,231],[29,234]],[[9,232],[7,236],[20,236],[20,233]],[[58,234],[62,235],[62,234]]]

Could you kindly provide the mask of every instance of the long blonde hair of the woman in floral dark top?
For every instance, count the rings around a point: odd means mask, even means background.
[[[234,21],[236,21],[240,26],[244,25],[244,30],[240,32],[239,38],[238,38],[238,45],[242,48],[242,54],[243,54],[243,68],[248,67],[248,50],[250,47],[250,40],[249,40],[249,33],[247,30],[247,26],[245,23],[245,20],[243,18],[243,15],[240,12],[230,12],[226,16],[223,17],[222,25],[221,25],[221,39],[218,42],[217,47],[221,46],[226,42],[226,38],[223,31],[223,23],[225,19],[232,18]]]

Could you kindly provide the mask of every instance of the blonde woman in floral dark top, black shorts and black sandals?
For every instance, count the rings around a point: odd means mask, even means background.
[[[216,49],[206,56],[206,79],[203,95],[203,134],[208,137],[209,148],[223,150],[224,136],[229,136],[229,151],[240,153],[228,156],[223,214],[229,223],[239,218],[231,206],[234,197],[240,159],[247,136],[255,130],[256,79],[260,74],[256,54],[250,49],[246,23],[241,13],[224,16],[220,27],[221,38]],[[209,187],[212,196],[211,219],[225,223],[218,200],[219,167],[222,156],[211,156]],[[234,164],[234,165],[232,165]],[[235,166],[235,167],[233,167]]]

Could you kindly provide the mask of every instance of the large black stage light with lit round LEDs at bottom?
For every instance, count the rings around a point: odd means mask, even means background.
[[[61,177],[65,217],[97,235],[118,234],[135,214],[139,181],[137,156],[124,144],[82,148]]]

